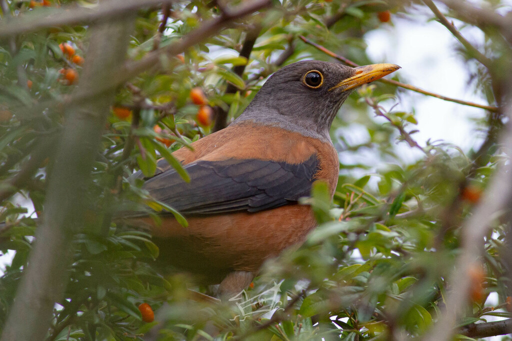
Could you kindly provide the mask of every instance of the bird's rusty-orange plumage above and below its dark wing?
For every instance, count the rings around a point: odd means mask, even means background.
[[[298,164],[316,154],[319,169],[315,178],[326,181],[331,195],[334,194],[339,164],[330,143],[279,127],[243,122],[208,135],[195,142],[194,148],[182,148],[174,155],[183,164],[227,158]],[[187,228],[172,216],[163,217],[160,226],[149,217],[137,221],[151,226],[162,261],[219,280],[232,270],[257,272],[269,257],[300,245],[316,224],[311,208],[299,204],[257,213],[190,216]]]

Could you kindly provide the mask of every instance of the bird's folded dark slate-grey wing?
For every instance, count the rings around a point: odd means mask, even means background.
[[[164,160],[159,169],[165,169]],[[258,212],[309,196],[318,158],[300,164],[265,160],[196,161],[184,167],[186,183],[173,169],[146,180],[143,188],[183,214]]]

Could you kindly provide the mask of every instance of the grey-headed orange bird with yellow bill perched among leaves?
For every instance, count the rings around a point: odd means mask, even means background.
[[[247,288],[265,260],[298,247],[315,227],[312,209],[299,199],[324,181],[331,199],[339,162],[329,130],[358,86],[396,70],[395,64],[349,67],[306,60],[271,75],[242,114],[226,128],[173,153],[187,183],[164,159],[142,189],[182,213],[148,226],[161,262],[219,284],[229,298]],[[139,171],[135,178],[143,178]]]

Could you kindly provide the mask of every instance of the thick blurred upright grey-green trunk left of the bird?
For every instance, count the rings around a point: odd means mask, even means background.
[[[134,21],[135,13],[132,13],[122,20],[108,20],[91,28],[77,95],[91,93],[98,84],[111,78],[122,62],[119,56],[126,54]],[[94,101],[68,108],[55,164],[49,174],[44,216],[36,230],[35,244],[2,340],[42,340],[48,332],[54,304],[62,299],[68,282],[72,239],[83,223],[86,206],[83,193],[90,185],[94,156],[113,99],[114,89]]]

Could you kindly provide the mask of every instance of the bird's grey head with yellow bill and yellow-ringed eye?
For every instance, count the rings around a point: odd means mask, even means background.
[[[399,68],[394,64],[350,67],[317,60],[296,62],[275,72],[235,122],[278,125],[330,141],[332,121],[352,90]]]

